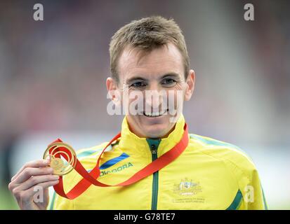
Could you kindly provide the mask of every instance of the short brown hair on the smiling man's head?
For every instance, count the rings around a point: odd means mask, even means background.
[[[186,78],[189,71],[189,57],[182,31],[173,19],[166,20],[161,16],[133,20],[124,27],[121,27],[112,36],[110,42],[110,69],[112,78],[119,82],[117,72],[118,59],[127,45],[150,51],[168,43],[176,45],[181,55],[183,55]]]

